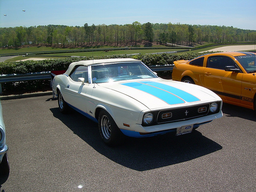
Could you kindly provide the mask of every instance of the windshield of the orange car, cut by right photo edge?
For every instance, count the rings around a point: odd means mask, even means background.
[[[243,66],[244,70],[246,70],[247,73],[256,72],[256,55],[236,56],[235,58],[236,60],[238,60],[238,62],[240,62],[240,64]]]

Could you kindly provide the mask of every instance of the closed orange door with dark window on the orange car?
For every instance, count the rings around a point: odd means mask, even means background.
[[[204,69],[204,86],[216,92],[223,100],[240,102],[243,73],[225,71],[226,66],[238,68],[226,56],[210,56]],[[238,68],[239,69],[239,68]]]

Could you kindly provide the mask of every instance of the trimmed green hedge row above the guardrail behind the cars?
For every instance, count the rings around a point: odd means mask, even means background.
[[[208,52],[210,53],[210,52]],[[31,72],[44,72],[52,70],[66,70],[70,63],[80,60],[108,59],[108,58],[134,58],[142,60],[147,66],[173,64],[176,60],[190,60],[202,53],[183,54],[138,54],[138,55],[113,55],[94,57],[75,57],[49,60],[27,60],[21,62],[0,62],[0,74],[25,74]]]

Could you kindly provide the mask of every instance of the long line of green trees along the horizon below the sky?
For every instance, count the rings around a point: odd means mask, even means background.
[[[153,41],[160,44],[192,45],[202,42],[232,43],[254,42],[256,30],[244,30],[232,26],[188,25],[188,24],[140,24],[135,21],[125,25],[89,26],[30,26],[0,28],[0,46],[22,46],[38,44],[47,46],[136,46]]]

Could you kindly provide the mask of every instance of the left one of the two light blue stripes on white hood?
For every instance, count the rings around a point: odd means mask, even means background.
[[[144,82],[145,83],[145,82]],[[122,85],[129,86],[132,88],[136,88],[138,90],[144,91],[148,94],[151,94],[164,102],[173,105],[173,104],[181,104],[184,103],[184,100],[178,98],[177,96],[170,94],[162,89],[156,88],[154,86],[150,86],[141,82],[130,82],[130,83],[122,83]]]

